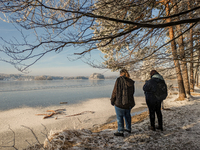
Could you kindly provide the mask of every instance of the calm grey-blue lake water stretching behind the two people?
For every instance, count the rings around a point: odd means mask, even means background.
[[[47,107],[80,103],[89,99],[110,97],[115,79],[0,81],[0,110],[19,107]],[[144,96],[144,82],[136,81],[135,96]]]

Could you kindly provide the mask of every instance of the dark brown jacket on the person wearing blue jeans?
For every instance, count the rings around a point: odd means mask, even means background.
[[[111,104],[122,109],[131,109],[135,106],[134,87],[135,81],[125,76],[120,76],[115,82],[111,96]]]

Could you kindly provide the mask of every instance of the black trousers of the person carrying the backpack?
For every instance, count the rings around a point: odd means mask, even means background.
[[[158,126],[163,128],[162,112],[161,112],[161,102],[156,100],[154,96],[147,96],[146,103],[149,108],[149,118],[150,123],[153,128],[155,128],[155,114],[158,118]]]

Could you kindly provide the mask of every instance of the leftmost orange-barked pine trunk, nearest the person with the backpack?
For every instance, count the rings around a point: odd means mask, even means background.
[[[169,3],[167,0],[165,0],[166,2],[166,16],[169,16]],[[171,19],[168,18],[166,20],[167,22],[171,22]],[[174,38],[174,30],[173,27],[169,27],[169,37],[170,40],[172,40]],[[173,40],[171,42],[171,48],[172,48],[172,56],[173,56],[173,60],[174,60],[174,65],[175,65],[175,70],[176,70],[176,76],[177,76],[177,81],[178,81],[178,88],[179,88],[179,100],[184,100],[186,98],[186,94],[185,94],[185,89],[184,89],[184,85],[183,85],[183,78],[182,78],[182,74],[181,74],[181,68],[180,68],[180,64],[179,64],[179,60],[177,57],[177,50],[176,50],[176,43],[175,40]]]

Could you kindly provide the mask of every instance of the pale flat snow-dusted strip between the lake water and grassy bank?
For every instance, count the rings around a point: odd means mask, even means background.
[[[136,106],[132,112],[141,111],[146,107],[144,97],[136,97]],[[64,109],[62,114],[43,119],[47,110]],[[66,117],[69,115],[81,115]],[[94,112],[94,113],[91,113]],[[37,143],[31,130],[43,143],[48,133],[64,129],[89,129],[98,127],[115,118],[115,110],[109,98],[92,99],[81,104],[60,105],[48,108],[19,108],[0,112],[0,145],[15,145],[18,149]],[[14,134],[15,133],[15,134]],[[13,143],[15,142],[15,143]],[[4,149],[4,148],[3,148]],[[13,149],[5,147],[6,150]]]

